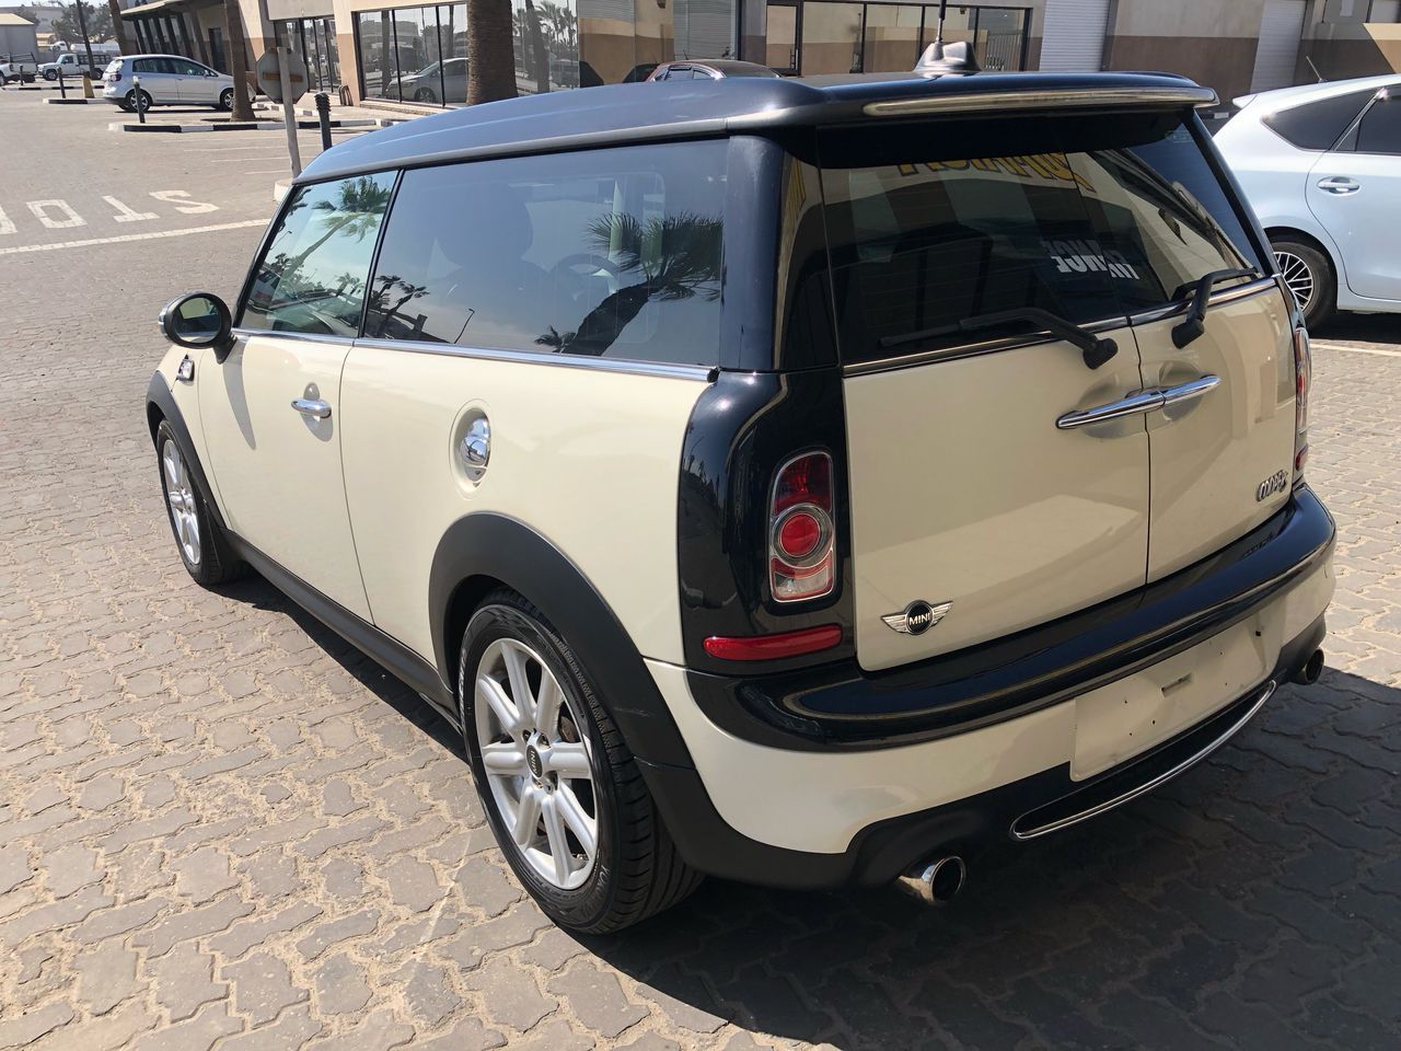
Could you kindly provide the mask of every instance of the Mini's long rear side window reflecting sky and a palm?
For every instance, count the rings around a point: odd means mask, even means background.
[[[403,174],[366,335],[717,364],[726,144]]]

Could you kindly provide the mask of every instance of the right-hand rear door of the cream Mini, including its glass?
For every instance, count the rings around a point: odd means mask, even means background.
[[[1147,579],[1220,549],[1289,499],[1295,455],[1290,303],[1187,118],[1119,121],[1119,144],[1079,154],[1098,230],[1125,263],[1152,455]],[[1236,273],[1238,276],[1227,276]],[[1184,328],[1216,275],[1199,334]],[[1272,483],[1271,479],[1283,479]]]

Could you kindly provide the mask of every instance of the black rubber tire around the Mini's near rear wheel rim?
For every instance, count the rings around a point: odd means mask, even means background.
[[[486,647],[499,639],[523,642],[549,664],[567,708],[580,713],[588,734],[598,844],[586,881],[563,890],[535,872],[507,831],[482,765],[475,716],[475,675]],[[458,699],[472,779],[496,841],[521,886],[562,928],[608,933],[632,926],[688,897],[703,877],[677,853],[642,779],[642,772],[584,675],[569,643],[530,601],[499,590],[472,614],[462,633]]]

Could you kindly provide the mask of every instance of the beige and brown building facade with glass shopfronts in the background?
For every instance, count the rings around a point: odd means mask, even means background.
[[[658,62],[740,57],[785,74],[908,70],[934,38],[929,0],[511,0],[517,91],[640,80]],[[248,62],[297,49],[314,90],[353,102],[467,101],[467,4],[238,0]],[[223,0],[150,0],[133,46],[227,70]],[[1006,0],[947,6],[946,41],[985,69],[1182,73],[1223,101],[1401,69],[1401,0]]]

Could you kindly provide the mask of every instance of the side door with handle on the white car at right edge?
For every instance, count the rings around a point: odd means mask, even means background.
[[[1358,128],[1325,153],[1306,186],[1309,207],[1342,245],[1348,287],[1374,300],[1401,300],[1401,88],[1379,95]]]

